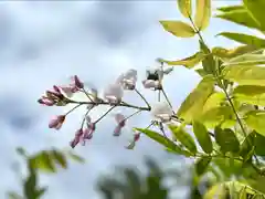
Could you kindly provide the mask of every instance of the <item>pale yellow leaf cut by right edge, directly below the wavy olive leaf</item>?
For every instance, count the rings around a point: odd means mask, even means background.
[[[223,66],[232,66],[232,65],[259,65],[265,64],[265,55],[264,54],[243,54],[236,57],[224,62]]]

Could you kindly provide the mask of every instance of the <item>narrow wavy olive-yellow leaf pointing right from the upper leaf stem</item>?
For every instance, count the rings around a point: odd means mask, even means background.
[[[230,50],[218,46],[212,49],[212,54],[221,59],[232,59],[242,54],[253,53],[256,50],[257,48],[252,45],[240,45]]]

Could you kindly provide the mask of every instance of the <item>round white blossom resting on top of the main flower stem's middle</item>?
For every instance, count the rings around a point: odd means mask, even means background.
[[[104,91],[104,98],[109,103],[119,103],[124,96],[124,91],[119,84],[109,84]]]

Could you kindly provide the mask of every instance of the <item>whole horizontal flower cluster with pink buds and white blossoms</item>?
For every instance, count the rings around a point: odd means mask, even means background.
[[[125,116],[120,113],[115,114],[116,127],[114,127],[114,136],[119,136],[121,129],[125,127],[127,121],[132,116],[139,114],[140,112],[150,112],[155,119],[148,126],[160,123],[170,122],[174,117],[172,106],[163,91],[162,78],[163,75],[172,72],[172,67],[163,70],[162,65],[159,69],[148,70],[146,80],[141,83],[145,88],[153,90],[159,92],[159,103],[155,106],[150,106],[146,97],[137,90],[137,71],[128,70],[117,77],[117,80],[109,84],[103,93],[103,96],[98,95],[96,88],[86,88],[84,82],[80,80],[77,75],[72,77],[68,85],[54,85],[52,90],[47,90],[45,95],[43,95],[38,102],[45,106],[66,106],[68,104],[74,104],[75,106],[68,111],[66,114],[54,116],[50,123],[49,127],[59,130],[65,122],[66,116],[80,106],[87,106],[85,116],[83,117],[82,125],[76,130],[73,140],[70,145],[74,148],[76,145],[85,143],[93,138],[96,130],[96,126],[100,119],[103,119],[108,113],[110,113],[115,107],[124,106],[128,108],[136,109],[131,115]],[[134,91],[138,94],[141,100],[146,103],[146,106],[137,106],[123,101],[125,91]],[[87,101],[78,102],[74,101],[72,96],[76,93],[84,93]],[[162,93],[167,102],[160,102],[160,93]],[[89,112],[99,105],[108,105],[109,109],[104,113],[99,118],[93,119],[89,116]],[[132,149],[140,138],[140,133],[134,130],[132,140],[126,147]]]

